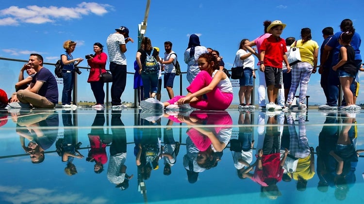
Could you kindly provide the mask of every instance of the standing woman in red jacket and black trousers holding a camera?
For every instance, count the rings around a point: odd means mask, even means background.
[[[92,108],[105,108],[104,83],[100,81],[100,74],[106,72],[105,65],[107,55],[102,52],[102,50],[103,46],[100,43],[95,43],[95,55],[86,55],[87,63],[91,67],[87,82],[90,83],[92,92],[96,99],[96,105],[92,106]]]

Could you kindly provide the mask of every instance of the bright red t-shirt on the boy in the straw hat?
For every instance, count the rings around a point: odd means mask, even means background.
[[[273,35],[264,39],[260,51],[265,51],[264,65],[282,68],[283,55],[287,52],[286,42]]]

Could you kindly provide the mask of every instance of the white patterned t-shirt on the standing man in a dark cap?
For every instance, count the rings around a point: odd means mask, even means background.
[[[106,46],[110,62],[127,65],[126,57],[120,50],[120,45],[125,45],[124,35],[112,33],[107,37]]]

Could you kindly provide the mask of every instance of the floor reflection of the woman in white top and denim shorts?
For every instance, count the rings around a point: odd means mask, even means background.
[[[237,170],[238,177],[245,178],[243,172],[250,166],[253,161],[253,128],[250,123],[250,113],[239,113],[239,135],[238,138],[232,138],[230,140],[230,151],[232,151],[232,158],[234,160],[234,166]]]

